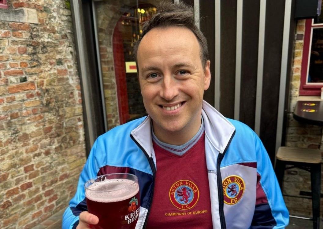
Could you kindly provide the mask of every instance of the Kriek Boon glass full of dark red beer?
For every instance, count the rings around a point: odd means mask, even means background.
[[[95,229],[134,229],[139,217],[137,176],[115,173],[97,176],[85,183],[88,211],[99,217]]]

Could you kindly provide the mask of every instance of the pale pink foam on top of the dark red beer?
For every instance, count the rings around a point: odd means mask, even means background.
[[[85,189],[88,199],[101,203],[119,202],[135,196],[139,185],[128,179],[110,179],[95,182]],[[130,185],[131,184],[131,185]],[[104,192],[104,190],[107,190]],[[111,191],[109,191],[111,190]]]

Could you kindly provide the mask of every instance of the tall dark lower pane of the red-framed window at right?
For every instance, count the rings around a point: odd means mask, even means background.
[[[307,83],[321,82],[323,82],[323,28],[313,28]]]

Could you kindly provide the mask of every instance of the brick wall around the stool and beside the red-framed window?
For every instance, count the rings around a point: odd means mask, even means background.
[[[323,150],[322,127],[302,124],[293,118],[293,111],[299,95],[300,72],[304,45],[305,20],[297,22],[296,41],[294,45],[293,71],[290,82],[290,101],[288,107],[288,122],[286,145],[300,148],[320,148]],[[322,170],[323,171],[323,170]],[[322,174],[323,177],[323,174]],[[323,183],[322,188],[323,190]],[[284,193],[299,195],[299,191],[311,192],[309,172],[301,169],[290,169],[285,171]],[[312,215],[312,201],[310,199],[284,197],[287,207],[292,215]],[[323,206],[323,201],[321,202]],[[323,216],[323,208],[321,215]]]

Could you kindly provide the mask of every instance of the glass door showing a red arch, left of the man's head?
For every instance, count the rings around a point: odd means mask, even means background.
[[[132,48],[159,2],[92,2],[106,130],[146,115]]]

